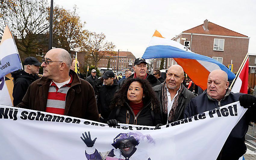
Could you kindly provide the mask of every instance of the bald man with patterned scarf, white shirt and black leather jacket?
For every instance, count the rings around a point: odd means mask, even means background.
[[[166,73],[166,80],[153,87],[160,102],[163,124],[183,119],[184,108],[195,97],[183,84],[183,68],[176,64],[170,66]],[[159,124],[157,128],[160,126]]]

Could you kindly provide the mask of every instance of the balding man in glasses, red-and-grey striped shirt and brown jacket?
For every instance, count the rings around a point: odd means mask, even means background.
[[[99,122],[94,90],[70,69],[71,57],[66,50],[51,49],[41,66],[43,77],[29,86],[17,107]]]

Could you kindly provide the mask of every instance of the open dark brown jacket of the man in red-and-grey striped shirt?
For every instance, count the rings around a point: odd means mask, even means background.
[[[67,92],[64,115],[99,122],[95,93],[92,86],[89,82],[78,78],[78,75],[73,70],[70,70],[69,74],[72,75],[73,81]],[[33,82],[29,86],[22,102],[16,107],[45,112],[50,83],[51,79],[46,77]]]

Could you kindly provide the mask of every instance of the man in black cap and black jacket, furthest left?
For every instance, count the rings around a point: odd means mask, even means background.
[[[35,57],[27,57],[23,64],[24,70],[19,69],[11,73],[14,78],[12,93],[14,106],[17,106],[22,101],[29,85],[39,79],[37,74],[39,73],[39,68],[42,63],[40,63]]]

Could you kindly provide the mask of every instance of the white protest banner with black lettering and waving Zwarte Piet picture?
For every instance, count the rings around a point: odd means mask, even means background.
[[[154,130],[0,106],[0,159],[215,160],[245,111],[235,102]]]

